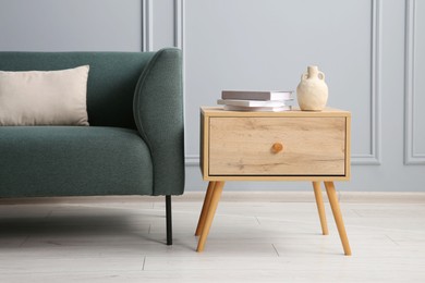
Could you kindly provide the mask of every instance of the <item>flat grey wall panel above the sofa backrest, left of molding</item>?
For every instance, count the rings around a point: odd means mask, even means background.
[[[139,51],[139,0],[0,0],[0,50]]]

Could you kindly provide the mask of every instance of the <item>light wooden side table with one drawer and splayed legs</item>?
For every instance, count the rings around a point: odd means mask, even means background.
[[[321,231],[328,234],[320,182],[347,256],[351,248],[335,181],[350,180],[351,114],[320,112],[235,112],[201,108],[201,170],[209,181],[195,235],[203,251],[226,181],[309,181]]]

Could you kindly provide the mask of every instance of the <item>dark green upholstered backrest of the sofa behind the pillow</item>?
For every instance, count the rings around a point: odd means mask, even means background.
[[[88,64],[87,112],[92,126],[136,128],[133,96],[155,52],[0,52],[1,71],[53,71]]]

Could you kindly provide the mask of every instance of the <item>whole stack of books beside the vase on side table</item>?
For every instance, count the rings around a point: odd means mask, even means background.
[[[292,109],[293,91],[222,90],[218,104],[229,111],[280,112]]]

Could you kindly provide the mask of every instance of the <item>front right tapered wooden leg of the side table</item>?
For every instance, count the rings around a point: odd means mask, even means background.
[[[345,256],[351,256],[350,243],[347,236],[344,222],[342,221],[342,214],[339,208],[337,192],[335,190],[333,182],[325,182],[325,187],[326,187],[326,193],[328,194],[330,207],[332,208],[335,222],[337,223],[337,229],[338,229],[339,237],[341,238],[342,242],[344,254]]]

